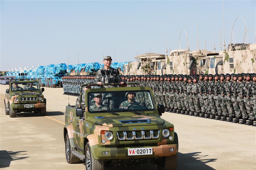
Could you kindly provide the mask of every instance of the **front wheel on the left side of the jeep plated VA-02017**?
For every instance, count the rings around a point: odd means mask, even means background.
[[[104,160],[94,159],[91,154],[89,142],[85,146],[85,168],[86,170],[104,170]]]

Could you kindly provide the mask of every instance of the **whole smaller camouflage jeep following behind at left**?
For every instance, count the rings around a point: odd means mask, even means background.
[[[31,79],[14,79],[5,92],[5,114],[15,117],[16,113],[34,112],[46,115],[46,99],[39,82]]]

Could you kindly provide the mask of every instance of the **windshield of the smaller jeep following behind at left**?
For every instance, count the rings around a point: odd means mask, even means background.
[[[11,91],[36,91],[39,90],[37,82],[13,82]]]

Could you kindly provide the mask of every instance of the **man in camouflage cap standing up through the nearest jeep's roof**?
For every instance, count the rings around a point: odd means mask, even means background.
[[[112,62],[112,58],[110,56],[104,56],[103,57],[104,67],[100,68],[97,71],[97,76],[95,78],[95,83],[101,85],[101,87],[103,87],[102,85],[105,84],[105,83],[116,83],[116,82],[118,82],[120,84],[124,84],[124,81],[120,77],[117,77],[117,76],[114,76],[114,75],[110,74],[111,70],[113,70],[113,71],[115,70],[114,68],[110,67],[111,62]],[[101,72],[105,72],[105,75],[102,75]],[[107,87],[116,87],[116,86],[109,85]]]

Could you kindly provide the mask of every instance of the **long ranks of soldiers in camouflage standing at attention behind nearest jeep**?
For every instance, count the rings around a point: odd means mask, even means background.
[[[81,84],[95,82],[95,76],[91,75],[71,77],[63,79],[64,92],[69,95],[77,96]],[[120,78],[124,82],[150,87],[156,103],[165,105],[166,112],[245,125],[253,125],[256,117],[255,73],[120,75]],[[139,101],[139,95],[137,98]]]

